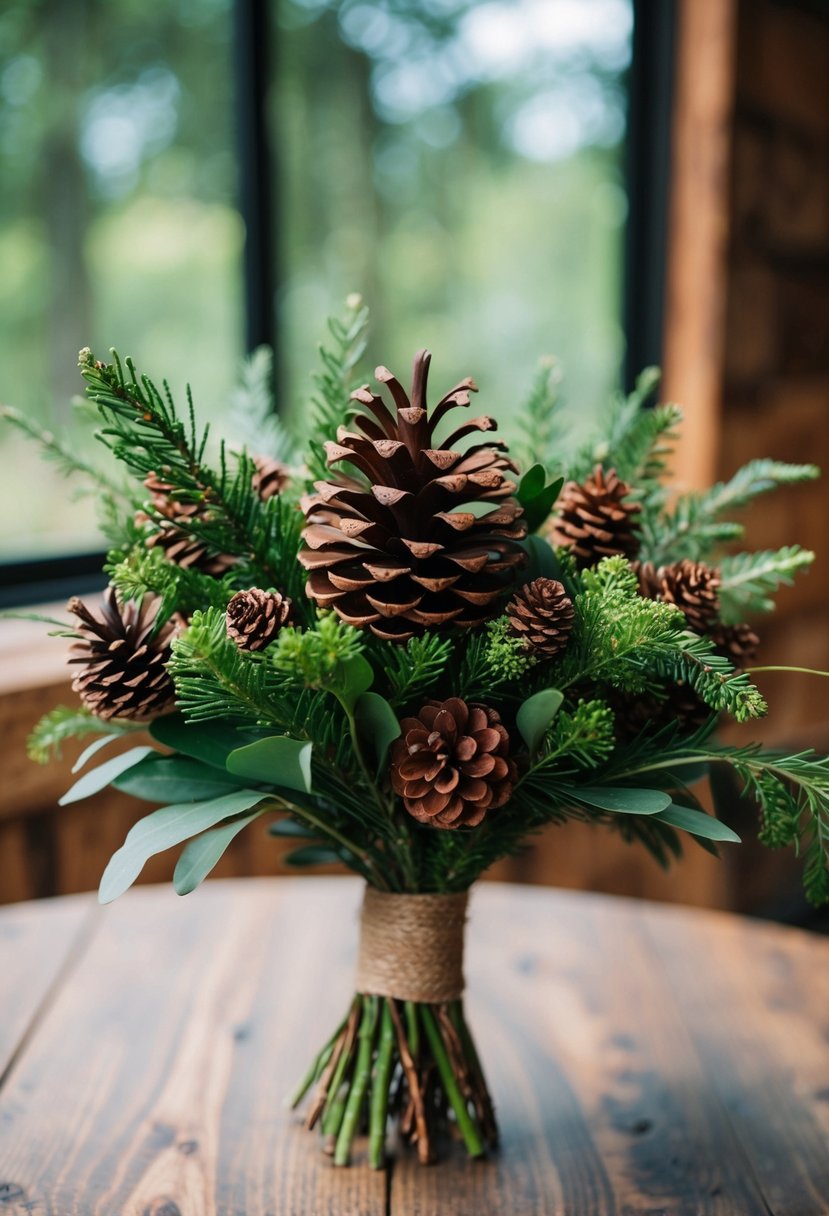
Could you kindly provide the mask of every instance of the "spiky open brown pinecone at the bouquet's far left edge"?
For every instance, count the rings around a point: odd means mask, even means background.
[[[69,663],[80,665],[72,687],[98,717],[143,721],[171,705],[175,689],[167,662],[176,624],[168,621],[151,638],[158,606],[154,596],[120,604],[114,587],[107,587],[97,613],[78,598],[69,601],[80,621],[69,647]]]

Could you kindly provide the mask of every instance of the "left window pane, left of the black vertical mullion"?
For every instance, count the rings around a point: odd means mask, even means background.
[[[231,0],[5,0],[0,400],[89,427],[80,347],[221,409],[239,354]],[[96,446],[96,445],[95,445]],[[103,454],[106,457],[106,454]],[[0,427],[0,558],[89,550],[94,505]]]

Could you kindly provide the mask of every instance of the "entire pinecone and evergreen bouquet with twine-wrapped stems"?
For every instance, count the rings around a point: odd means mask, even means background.
[[[819,902],[829,765],[716,734],[766,713],[749,619],[812,559],[735,551],[733,511],[817,469],[757,460],[676,499],[679,411],[645,407],[653,373],[568,446],[548,364],[508,452],[494,418],[468,416],[470,378],[429,404],[425,350],[411,387],[384,366],[374,387],[359,378],[365,326],[357,299],[332,322],[301,444],[267,409],[261,355],[214,444],[192,401],[181,412],[131,361],[81,351],[123,475],[44,438],[92,471],[109,586],[56,621],[80,704],[30,749],[92,736],[62,801],[113,784],[154,806],[103,902],[169,849],[186,895],[264,823],[293,843],[289,865],[362,876],[356,996],[294,1102],[335,1164],[367,1132],[379,1166],[390,1121],[424,1162],[446,1130],[470,1156],[496,1142],[462,969],[467,893],[489,866],[568,820],[662,866],[683,839],[716,851],[738,838],[698,782],[724,765]],[[150,743],[107,754],[136,731]]]

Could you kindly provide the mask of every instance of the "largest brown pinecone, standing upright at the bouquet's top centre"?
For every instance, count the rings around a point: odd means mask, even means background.
[[[391,641],[449,623],[483,624],[525,558],[519,541],[526,527],[506,445],[453,449],[495,422],[470,418],[434,446],[438,424],[469,405],[475,384],[462,381],[429,415],[430,358],[427,350],[414,358],[411,400],[390,371],[377,368],[396,415],[367,385],[353,394],[353,429],[340,427],[326,452],[329,465],[344,462],[354,475],[316,482],[316,494],[303,501],[308,525],[299,561],[310,572],[309,596]],[[469,510],[481,503],[491,510]]]

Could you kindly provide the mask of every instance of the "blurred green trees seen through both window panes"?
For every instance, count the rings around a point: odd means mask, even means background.
[[[631,0],[280,0],[269,118],[280,407],[325,317],[372,305],[371,356],[509,413],[560,358],[574,412],[616,385]],[[220,418],[241,354],[232,0],[11,0],[0,13],[0,399],[62,427],[81,345],[193,385]],[[0,558],[95,546],[89,500],[0,432]]]

